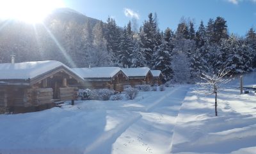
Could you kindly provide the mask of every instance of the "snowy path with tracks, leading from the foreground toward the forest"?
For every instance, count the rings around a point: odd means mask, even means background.
[[[118,153],[170,153],[173,127],[189,86],[173,88],[158,98],[113,144],[113,154]]]

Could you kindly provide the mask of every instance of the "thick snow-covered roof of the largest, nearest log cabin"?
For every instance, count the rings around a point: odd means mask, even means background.
[[[0,80],[28,80],[60,66],[74,73],[69,67],[65,66],[65,64],[55,60],[20,62],[15,64],[4,63],[0,64]],[[79,76],[79,74],[76,75]],[[83,79],[81,76],[79,76],[79,78]]]

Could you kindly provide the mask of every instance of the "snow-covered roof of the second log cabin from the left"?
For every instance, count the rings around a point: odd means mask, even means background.
[[[113,78],[116,73],[121,71],[120,67],[85,67],[73,68],[72,70],[83,78]]]

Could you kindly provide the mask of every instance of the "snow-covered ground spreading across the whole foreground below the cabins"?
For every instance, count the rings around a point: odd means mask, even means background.
[[[256,96],[232,85],[218,95],[217,117],[214,96],[193,85],[0,115],[0,153],[256,153]]]

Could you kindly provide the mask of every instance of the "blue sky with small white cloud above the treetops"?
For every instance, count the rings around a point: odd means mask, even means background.
[[[180,18],[200,20],[207,24],[209,18],[217,16],[227,20],[228,31],[244,36],[250,27],[256,29],[256,0],[63,0],[65,6],[88,17],[106,21],[115,18],[124,27],[131,16],[138,18],[141,25],[148,13],[156,12],[161,30],[176,29]],[[126,11],[125,11],[126,10]],[[125,15],[126,12],[126,15]],[[138,17],[137,17],[138,16]]]

